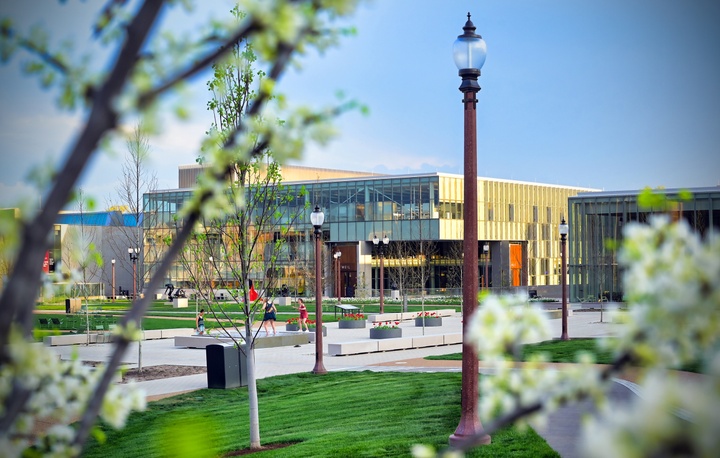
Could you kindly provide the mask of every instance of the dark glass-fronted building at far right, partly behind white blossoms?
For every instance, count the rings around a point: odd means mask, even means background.
[[[720,234],[720,187],[655,190],[677,202],[670,213],[686,220],[701,237]],[[647,222],[666,209],[643,208],[638,191],[580,193],[569,199],[568,236],[571,301],[620,301],[622,270],[613,246],[623,238],[623,227]],[[689,195],[688,199],[685,196]],[[608,244],[612,240],[616,243]]]

